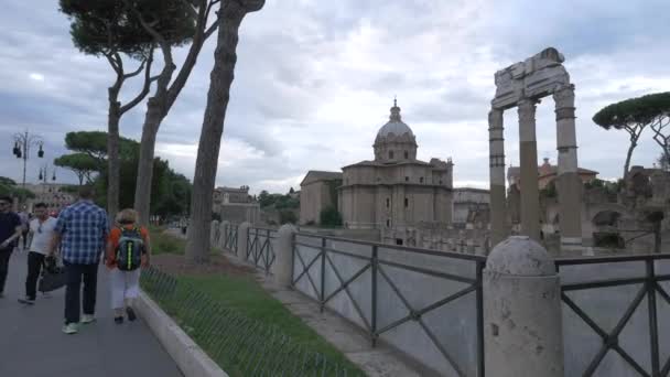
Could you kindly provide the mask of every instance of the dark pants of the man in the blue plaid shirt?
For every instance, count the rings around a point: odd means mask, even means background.
[[[67,286],[65,287],[65,324],[79,322],[82,280],[84,280],[84,314],[94,315],[98,286],[98,263],[79,265],[65,262]]]

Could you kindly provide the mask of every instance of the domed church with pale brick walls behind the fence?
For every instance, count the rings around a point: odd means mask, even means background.
[[[417,227],[452,223],[453,163],[417,159],[417,139],[397,103],[372,148],[374,160],[342,168],[337,202],[345,227],[382,229],[408,244]]]

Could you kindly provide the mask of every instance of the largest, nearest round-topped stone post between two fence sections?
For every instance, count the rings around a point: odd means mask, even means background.
[[[483,290],[487,375],[563,377],[560,280],[547,250],[528,236],[498,244]]]

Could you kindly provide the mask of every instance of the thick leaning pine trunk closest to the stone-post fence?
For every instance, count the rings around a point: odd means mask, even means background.
[[[212,193],[216,179],[216,169],[220,151],[226,108],[230,98],[230,86],[235,77],[237,62],[237,43],[239,26],[249,10],[262,8],[262,1],[245,8],[245,1],[228,1],[220,9],[216,50],[214,51],[214,68],[209,75],[209,91],[207,107],[203,119],[203,129],[195,163],[193,177],[193,194],[191,196],[191,227],[186,240],[186,261],[203,263],[209,260],[209,233],[212,223]]]

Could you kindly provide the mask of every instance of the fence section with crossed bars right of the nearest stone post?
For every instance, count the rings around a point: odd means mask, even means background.
[[[670,254],[565,258],[556,269],[565,376],[670,375]]]

